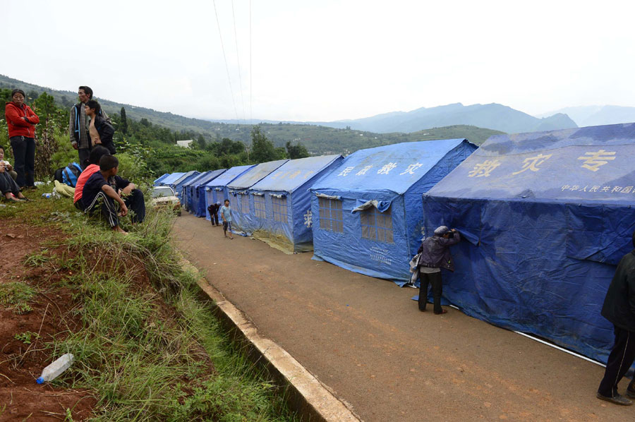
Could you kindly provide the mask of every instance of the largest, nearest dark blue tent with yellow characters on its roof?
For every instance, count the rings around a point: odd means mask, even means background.
[[[467,315],[606,361],[600,315],[635,229],[635,124],[497,135],[423,195],[456,227],[443,296]]]

